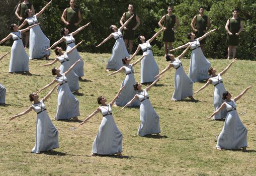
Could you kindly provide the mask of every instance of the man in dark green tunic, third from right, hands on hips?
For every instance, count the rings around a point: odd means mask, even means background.
[[[158,25],[163,28],[163,37],[162,41],[164,42],[164,53],[165,56],[168,55],[168,50],[173,49],[172,42],[175,41],[174,31],[180,26],[177,17],[173,15],[174,8],[169,6],[167,9],[167,14],[162,16],[161,20],[158,22]],[[163,26],[162,26],[163,22]],[[176,24],[176,26],[175,26]],[[167,48],[167,45],[169,47]]]

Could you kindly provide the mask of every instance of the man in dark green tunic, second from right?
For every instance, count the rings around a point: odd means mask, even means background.
[[[208,28],[206,29],[208,25]],[[199,15],[196,15],[191,24],[191,28],[195,32],[196,38],[199,38],[203,36],[210,28],[211,28],[211,23],[209,18],[204,15],[204,7],[199,8]],[[205,38],[200,41],[200,46],[202,51],[204,51],[204,44],[205,44]]]

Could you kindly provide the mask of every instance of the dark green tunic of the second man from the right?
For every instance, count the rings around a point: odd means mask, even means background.
[[[198,30],[195,35],[196,38],[202,37],[205,33],[204,30],[206,30],[208,17],[204,15],[203,17],[197,15],[196,16],[196,29]],[[205,38],[200,41],[200,44],[205,44]]]

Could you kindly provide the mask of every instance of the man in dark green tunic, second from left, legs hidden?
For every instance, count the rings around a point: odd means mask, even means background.
[[[82,18],[79,9],[74,7],[75,0],[70,0],[69,5],[70,7],[64,10],[61,20],[64,22],[69,33],[71,33],[77,29],[77,26],[81,23]]]

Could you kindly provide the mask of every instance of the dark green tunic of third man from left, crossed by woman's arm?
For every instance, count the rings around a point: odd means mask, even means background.
[[[125,13],[124,22],[126,22],[133,14],[128,12]],[[135,38],[135,31],[132,30],[136,26],[136,14],[132,17],[131,21],[126,25],[127,30],[123,30],[123,38],[126,40],[134,40]]]

